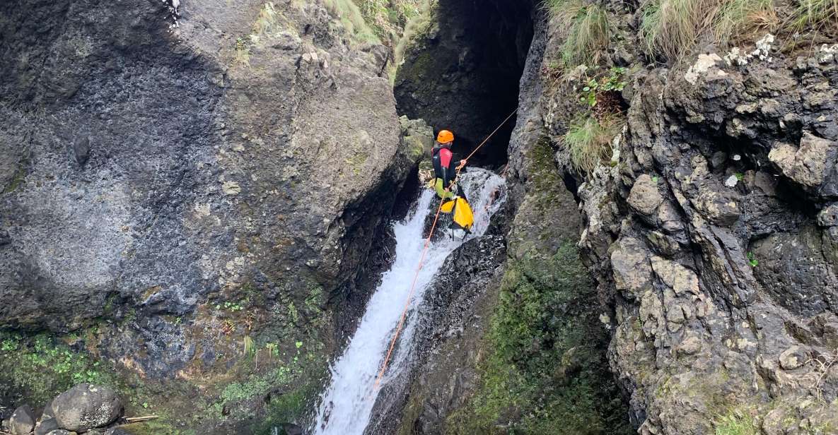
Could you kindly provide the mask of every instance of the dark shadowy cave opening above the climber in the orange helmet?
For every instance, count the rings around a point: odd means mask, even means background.
[[[452,130],[455,157],[467,156],[517,107],[532,37],[529,1],[440,0],[396,74],[399,113]],[[512,116],[470,164],[504,165],[514,127]]]

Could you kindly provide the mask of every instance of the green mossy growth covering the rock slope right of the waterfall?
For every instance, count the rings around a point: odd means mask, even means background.
[[[479,362],[478,391],[449,417],[454,434],[631,433],[607,369],[607,335],[572,243],[504,274]]]

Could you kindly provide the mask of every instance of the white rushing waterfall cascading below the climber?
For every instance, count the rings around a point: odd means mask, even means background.
[[[481,235],[489,227],[489,218],[505,200],[504,180],[491,171],[471,168],[459,179],[463,191],[474,212],[472,234],[465,238]],[[358,330],[349,340],[343,356],[330,367],[332,382],[323,391],[317,418],[312,428],[318,435],[361,435],[370,422],[375,399],[381,386],[386,385],[401,368],[410,354],[410,346],[396,345],[391,363],[375,389],[375,377],[384,361],[387,349],[396,330],[396,325],[410,294],[411,282],[422,255],[425,239],[422,238],[425,219],[431,209],[433,192],[424,190],[416,203],[415,211],[404,222],[396,223],[396,258],[391,269],[381,277],[381,284],[367,304]],[[440,228],[444,229],[444,228]],[[414,310],[424,298],[425,289],[442,266],[445,258],[464,240],[448,237],[439,238],[428,248],[422,269],[416,278],[416,290],[411,298],[410,310]],[[416,324],[416,316],[409,315],[399,335],[400,343],[410,343]]]

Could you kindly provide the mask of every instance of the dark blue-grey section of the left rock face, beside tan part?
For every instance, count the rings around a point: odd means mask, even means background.
[[[215,287],[175,218],[219,137],[213,65],[176,49],[165,8],[4,6],[3,323],[60,329],[165,280],[182,314]],[[216,68],[217,69],[217,68]],[[217,74],[217,72],[216,72]],[[126,261],[126,258],[132,258]],[[181,285],[182,284],[182,285]],[[191,291],[184,293],[184,287]]]

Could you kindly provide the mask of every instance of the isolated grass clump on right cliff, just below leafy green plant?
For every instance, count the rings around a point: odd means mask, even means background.
[[[603,115],[600,118],[597,119],[591,113],[578,115],[561,139],[570,151],[574,169],[580,173],[591,173],[611,156],[611,141],[623,127],[622,120],[614,115]]]

